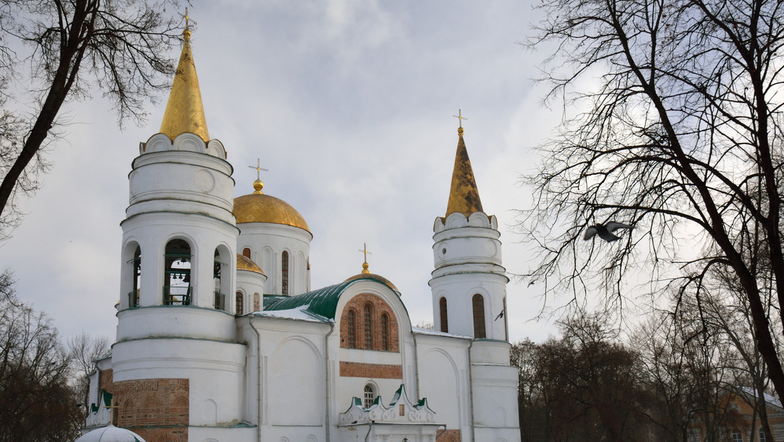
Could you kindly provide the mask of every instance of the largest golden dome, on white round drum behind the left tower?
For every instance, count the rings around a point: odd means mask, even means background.
[[[237,224],[245,222],[268,222],[272,224],[291,225],[307,232],[305,218],[289,203],[263,193],[242,195],[234,199],[234,216]]]

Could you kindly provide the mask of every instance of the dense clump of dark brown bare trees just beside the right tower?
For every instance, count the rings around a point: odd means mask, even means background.
[[[561,321],[563,336],[513,347],[522,440],[649,440],[637,354],[602,315]]]

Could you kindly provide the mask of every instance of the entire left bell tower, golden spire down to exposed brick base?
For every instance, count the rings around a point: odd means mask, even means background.
[[[207,131],[186,24],[160,133],[140,144],[129,174],[117,342],[102,387],[118,400],[117,425],[147,440],[203,440],[202,428],[247,418],[241,395],[222,394],[241,391],[245,376],[232,171]]]

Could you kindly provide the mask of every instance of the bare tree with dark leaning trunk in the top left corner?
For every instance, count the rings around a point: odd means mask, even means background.
[[[2,0],[0,2],[0,229],[20,220],[16,200],[38,188],[42,149],[56,137],[67,101],[100,90],[122,122],[169,86],[168,49],[177,0]],[[165,74],[166,76],[162,76]],[[26,102],[29,111],[13,105]],[[0,230],[0,237],[2,237]],[[5,232],[5,235],[8,235]]]

